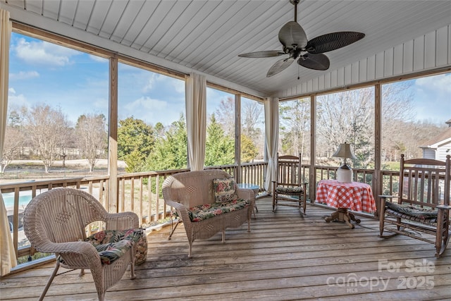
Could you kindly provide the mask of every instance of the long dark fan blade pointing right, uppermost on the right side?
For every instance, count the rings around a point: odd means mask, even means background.
[[[311,54],[322,54],[323,52],[332,51],[345,47],[349,44],[363,39],[365,34],[362,32],[342,31],[331,32],[326,35],[320,35],[311,39],[305,47],[306,51]]]

